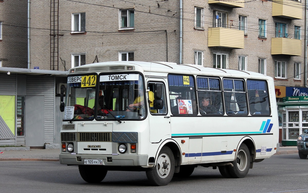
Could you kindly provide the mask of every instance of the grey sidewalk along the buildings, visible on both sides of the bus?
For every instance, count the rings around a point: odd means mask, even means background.
[[[60,149],[30,149],[23,148],[1,148],[3,154],[0,154],[0,161],[59,161]],[[279,147],[279,151],[275,155],[297,154],[297,147]]]

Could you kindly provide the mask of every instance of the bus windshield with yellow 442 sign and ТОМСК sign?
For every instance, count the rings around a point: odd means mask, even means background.
[[[66,98],[64,120],[119,121],[145,117],[140,74],[72,76],[67,79],[67,88],[70,94]]]

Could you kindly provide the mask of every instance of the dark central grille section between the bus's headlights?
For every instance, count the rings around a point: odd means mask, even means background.
[[[78,133],[78,141],[97,141],[97,142],[111,142],[112,141],[112,133]]]

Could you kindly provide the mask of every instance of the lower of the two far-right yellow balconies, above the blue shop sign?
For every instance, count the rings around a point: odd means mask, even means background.
[[[271,54],[301,56],[302,40],[293,38],[272,38]]]

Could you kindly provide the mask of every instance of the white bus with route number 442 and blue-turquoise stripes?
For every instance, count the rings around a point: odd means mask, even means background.
[[[70,69],[61,90],[60,163],[78,165],[88,183],[145,171],[164,186],[197,166],[243,178],[279,149],[274,82],[263,74],[100,62]]]

